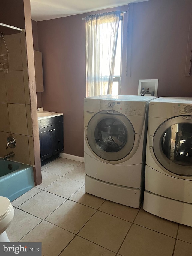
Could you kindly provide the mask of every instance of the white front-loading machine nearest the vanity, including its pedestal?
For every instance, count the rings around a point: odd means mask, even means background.
[[[85,191],[138,208],[142,200],[149,101],[102,95],[84,99]]]

